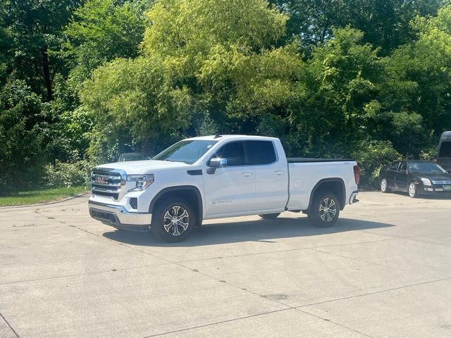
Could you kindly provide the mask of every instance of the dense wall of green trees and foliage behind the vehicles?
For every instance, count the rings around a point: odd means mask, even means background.
[[[6,0],[0,194],[197,134],[353,156],[364,183],[451,130],[447,0]]]

